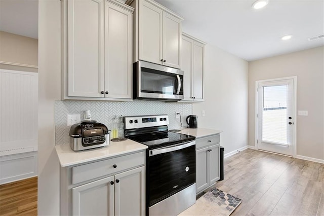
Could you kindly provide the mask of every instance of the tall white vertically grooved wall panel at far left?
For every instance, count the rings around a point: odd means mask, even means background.
[[[37,151],[38,74],[0,69],[0,156]]]

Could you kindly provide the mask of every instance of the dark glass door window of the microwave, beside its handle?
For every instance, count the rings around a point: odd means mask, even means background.
[[[141,92],[181,94],[183,76],[141,67]],[[179,89],[180,81],[180,89]]]

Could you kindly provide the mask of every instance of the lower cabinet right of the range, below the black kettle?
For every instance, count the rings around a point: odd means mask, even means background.
[[[196,139],[196,193],[220,178],[219,134]]]

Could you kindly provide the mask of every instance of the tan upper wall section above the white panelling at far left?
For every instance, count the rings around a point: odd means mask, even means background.
[[[0,31],[0,68],[37,72],[38,40]]]

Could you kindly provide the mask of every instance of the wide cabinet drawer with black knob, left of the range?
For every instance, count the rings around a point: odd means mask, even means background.
[[[103,161],[72,167],[72,184],[120,172],[145,163],[145,152],[120,156]],[[116,165],[114,168],[114,165]]]

